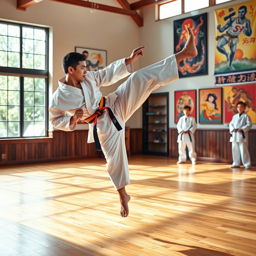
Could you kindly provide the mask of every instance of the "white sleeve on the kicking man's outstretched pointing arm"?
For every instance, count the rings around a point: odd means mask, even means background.
[[[103,70],[89,71],[88,73],[94,78],[97,87],[109,86],[120,79],[129,76],[133,72],[133,65],[130,63],[125,66],[125,59],[117,60],[105,67]]]

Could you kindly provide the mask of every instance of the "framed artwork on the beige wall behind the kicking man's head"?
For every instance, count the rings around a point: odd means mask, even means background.
[[[105,50],[76,47],[76,52],[86,56],[87,71],[97,71],[107,66],[107,51]]]

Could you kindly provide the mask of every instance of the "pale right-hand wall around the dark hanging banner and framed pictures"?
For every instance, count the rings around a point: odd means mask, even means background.
[[[169,92],[169,126],[176,127],[174,123],[174,91],[183,90],[183,89],[198,89],[199,88],[211,88],[214,87],[214,52],[215,52],[215,19],[214,19],[214,10],[221,7],[226,7],[230,5],[235,5],[239,3],[247,2],[246,0],[237,0],[230,3],[224,3],[215,7],[204,8],[201,10],[196,10],[194,12],[178,15],[176,17],[164,19],[155,22],[155,6],[145,8],[143,11],[144,16],[144,26],[140,28],[140,44],[145,45],[144,57],[140,60],[140,68],[146,67],[153,64],[154,62],[160,61],[172,55],[174,53],[174,39],[173,39],[173,21],[181,18],[186,18],[189,16],[197,15],[200,13],[208,13],[208,75],[206,76],[196,76],[181,78],[178,81],[175,81],[167,86],[161,86],[154,92]],[[197,94],[198,95],[198,94]],[[197,97],[198,101],[198,97]],[[199,105],[197,102],[197,109]],[[223,104],[224,111],[224,104]],[[142,115],[136,113],[137,115]],[[142,119],[138,126],[142,127]],[[198,121],[197,113],[197,121]],[[198,123],[198,122],[197,122]],[[224,124],[198,124],[198,128],[226,128],[227,125]],[[256,128],[256,125],[253,125],[253,129]]]

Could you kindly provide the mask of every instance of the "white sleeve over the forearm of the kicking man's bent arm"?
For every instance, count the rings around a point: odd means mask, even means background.
[[[65,112],[51,106],[49,108],[50,112],[50,122],[51,124],[62,131],[74,131],[77,127],[77,123],[69,125],[71,116],[66,116]]]

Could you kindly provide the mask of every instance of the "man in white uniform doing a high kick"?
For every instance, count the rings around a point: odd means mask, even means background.
[[[76,129],[79,119],[89,123],[88,143],[95,141],[102,149],[110,179],[119,193],[120,215],[127,217],[130,196],[125,186],[130,184],[125,150],[125,122],[142,105],[150,93],[178,77],[177,63],[195,57],[197,49],[193,32],[188,28],[184,48],[175,55],[134,72],[115,92],[102,97],[99,88],[109,86],[133,72],[132,62],[143,56],[145,46],[134,49],[131,56],[111,63],[103,70],[86,70],[86,56],[71,52],[62,61],[66,74],[52,95],[50,122],[63,131]]]

